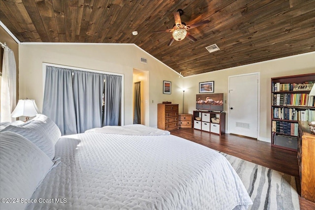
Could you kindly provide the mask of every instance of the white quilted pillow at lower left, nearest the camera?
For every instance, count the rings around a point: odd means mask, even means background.
[[[13,132],[0,132],[0,135],[0,198],[19,199],[18,203],[0,202],[0,209],[25,209],[27,204],[20,199],[31,198],[53,162],[23,136]]]

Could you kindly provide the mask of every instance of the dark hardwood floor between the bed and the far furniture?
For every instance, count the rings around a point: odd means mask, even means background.
[[[172,135],[180,136],[214,150],[219,150],[255,164],[294,176],[300,195],[299,167],[297,153],[294,151],[274,148],[270,146],[270,143],[247,137],[232,134],[223,134],[220,137],[193,128],[180,128],[170,132]],[[315,210],[315,203],[300,196],[299,201],[301,210]]]

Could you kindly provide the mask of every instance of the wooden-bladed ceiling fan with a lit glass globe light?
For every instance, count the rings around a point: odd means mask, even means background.
[[[196,28],[198,26],[204,25],[209,23],[209,20],[204,20],[198,23],[194,23],[191,25],[186,25],[186,23],[181,21],[181,15],[184,14],[184,11],[182,9],[178,9],[176,12],[174,12],[174,19],[175,19],[175,24],[173,26],[173,29],[168,29],[168,30],[155,30],[153,33],[160,33],[160,32],[172,32],[173,37],[171,40],[168,42],[168,46],[170,46],[175,40],[176,41],[181,41],[185,37],[189,38],[191,41],[195,42],[197,39],[193,37],[188,30]]]

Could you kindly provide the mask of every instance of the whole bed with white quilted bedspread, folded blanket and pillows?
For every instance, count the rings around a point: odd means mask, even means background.
[[[246,210],[252,204],[223,155],[168,131],[105,126],[61,137],[56,127],[38,115],[1,131],[1,209]]]

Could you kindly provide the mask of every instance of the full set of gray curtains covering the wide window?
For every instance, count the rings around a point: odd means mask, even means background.
[[[121,91],[122,76],[46,66],[43,114],[58,125],[62,135],[102,124],[120,125]]]

